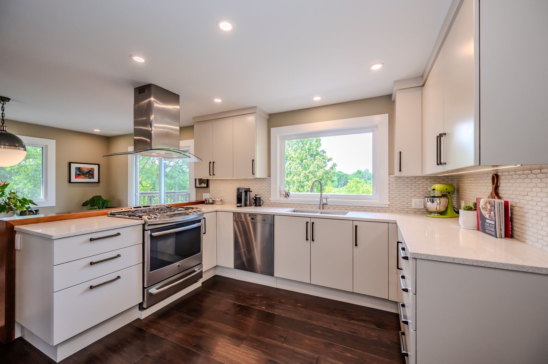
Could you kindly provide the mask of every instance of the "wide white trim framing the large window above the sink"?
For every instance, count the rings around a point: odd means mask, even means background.
[[[342,195],[329,193],[324,194],[324,197],[329,197],[329,204],[332,205],[388,206],[390,204],[388,195],[388,114],[272,128],[270,130],[270,201],[273,203],[286,204],[318,203],[317,193],[292,193],[287,199],[279,197],[279,186],[282,186],[283,184],[282,178],[284,176],[285,168],[285,141],[287,139],[298,138],[299,134],[306,134],[308,136],[314,132],[318,132],[318,135],[340,135],[344,134],[345,131],[350,134],[351,132],[367,130],[373,130],[373,146],[377,147],[376,158],[373,160],[373,170],[377,171],[373,181],[373,197],[365,195]]]

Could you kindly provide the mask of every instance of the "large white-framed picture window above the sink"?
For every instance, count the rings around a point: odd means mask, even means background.
[[[318,179],[332,205],[388,205],[387,124],[385,114],[272,128],[271,200],[316,204]]]

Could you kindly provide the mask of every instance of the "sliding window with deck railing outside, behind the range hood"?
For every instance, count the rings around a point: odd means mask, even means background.
[[[179,143],[181,151],[193,153],[194,141]],[[133,147],[129,148],[130,151]],[[130,205],[175,204],[195,200],[193,164],[186,158],[129,156]]]

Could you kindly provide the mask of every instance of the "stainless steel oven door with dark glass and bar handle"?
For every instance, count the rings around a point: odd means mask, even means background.
[[[202,263],[202,219],[145,230],[144,286]]]

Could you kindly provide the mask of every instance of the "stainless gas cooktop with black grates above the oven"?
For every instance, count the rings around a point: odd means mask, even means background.
[[[109,216],[144,220],[146,224],[166,224],[193,220],[203,216],[203,212],[192,206],[147,205],[111,210]]]

